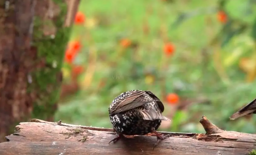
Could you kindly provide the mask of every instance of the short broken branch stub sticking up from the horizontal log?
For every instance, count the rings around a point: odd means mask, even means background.
[[[206,131],[206,135],[224,132],[223,130],[219,129],[216,125],[212,124],[206,118],[206,116],[202,116],[202,118],[199,120],[199,122],[202,124],[204,130]]]

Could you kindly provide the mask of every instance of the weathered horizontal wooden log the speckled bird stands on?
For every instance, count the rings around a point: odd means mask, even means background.
[[[32,119],[15,127],[0,155],[246,155],[256,149],[256,135],[223,131],[205,116],[200,119],[206,133],[168,133],[153,150],[156,137],[127,136],[116,143],[112,129],[77,126]]]

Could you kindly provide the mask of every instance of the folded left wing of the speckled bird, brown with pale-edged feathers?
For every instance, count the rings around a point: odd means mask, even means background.
[[[144,93],[142,90],[136,90],[127,92],[128,95],[120,94],[120,97],[115,98],[110,105],[109,114],[117,114],[149,103],[150,101],[147,98],[142,97]]]

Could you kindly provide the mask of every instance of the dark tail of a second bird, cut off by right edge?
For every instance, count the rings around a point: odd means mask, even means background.
[[[256,98],[251,103],[236,111],[232,116],[230,116],[230,119],[235,120],[236,118],[251,114],[256,114]]]

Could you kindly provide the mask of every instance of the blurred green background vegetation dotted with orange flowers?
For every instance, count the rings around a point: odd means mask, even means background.
[[[164,103],[161,131],[255,133],[256,116],[229,117],[256,98],[255,0],[82,0],[63,65],[55,120],[112,127],[127,90]]]

